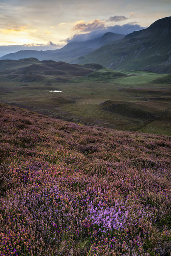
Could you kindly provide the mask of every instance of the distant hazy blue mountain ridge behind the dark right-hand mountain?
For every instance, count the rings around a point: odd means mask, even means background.
[[[9,53],[0,59],[23,59],[37,58],[39,60],[54,60],[72,62],[75,58],[93,52],[94,50],[124,38],[124,35],[116,33],[105,33],[102,37],[83,42],[69,42],[61,49],[48,51],[24,50],[16,53]]]

